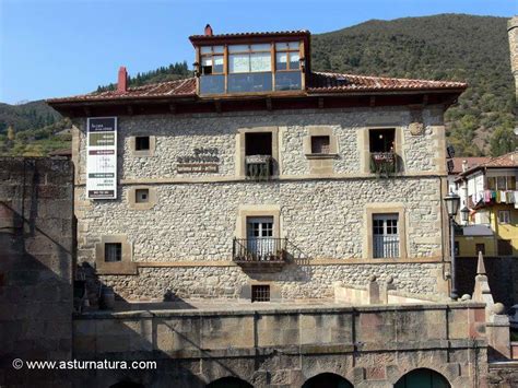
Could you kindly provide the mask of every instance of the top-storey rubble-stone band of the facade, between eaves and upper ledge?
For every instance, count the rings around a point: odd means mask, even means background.
[[[279,129],[282,174],[302,176],[309,174],[309,161],[304,154],[303,138],[309,127],[326,126],[338,139],[339,157],[334,161],[335,174],[358,174],[364,151],[364,136],[369,128],[397,128],[401,130],[401,157],[408,172],[437,172],[438,157],[444,152],[444,122],[440,107],[423,110],[420,120],[423,132],[411,134],[414,121],[407,108],[284,110],[239,114],[199,114],[168,116],[122,116],[118,118],[119,177],[121,179],[178,178],[189,176],[228,176],[236,173],[236,136],[246,128],[275,127]],[[78,174],[85,179],[86,119],[74,120],[78,131]],[[132,136],[154,136],[153,156],[134,156]],[[368,139],[367,139],[368,140]],[[367,142],[368,144],[368,142]],[[219,150],[219,173],[177,174],[177,157],[188,156],[196,148]],[[444,164],[444,161],[440,162]]]

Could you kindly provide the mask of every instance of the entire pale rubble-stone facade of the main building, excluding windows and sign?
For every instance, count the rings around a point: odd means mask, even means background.
[[[428,106],[419,117],[423,131],[416,134],[409,129],[415,110],[396,107],[119,117],[120,185],[111,201],[85,198],[85,120],[75,119],[79,262],[95,267],[103,238],[123,236],[137,274],[110,270],[101,281],[130,299],[161,299],[167,291],[237,297],[257,279],[279,286],[283,298],[318,298],[329,296],[333,281],[357,284],[372,273],[395,277],[407,292],[446,293],[443,109]],[[335,138],[331,173],[315,174],[304,152],[315,128]],[[402,161],[396,177],[369,172],[368,131],[377,128],[395,128]],[[239,176],[239,137],[255,129],[278,134],[279,176],[269,181]],[[136,155],[136,136],[154,138],[151,156]],[[177,174],[178,157],[200,148],[217,150],[217,173]],[[150,209],[134,209],[134,187],[153,190]],[[233,238],[245,208],[278,209],[278,237],[289,239],[304,266],[296,261],[279,273],[255,275],[236,267]],[[368,217],[393,209],[404,234],[401,257],[372,259]]]

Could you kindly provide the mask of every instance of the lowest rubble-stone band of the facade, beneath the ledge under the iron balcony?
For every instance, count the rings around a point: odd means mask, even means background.
[[[333,297],[333,282],[365,285],[376,274],[392,277],[397,290],[436,295],[440,263],[289,266],[280,273],[245,273],[237,266],[139,268],[139,275],[101,275],[99,280],[127,301],[176,301],[189,297],[237,298],[251,284],[270,284],[283,299]],[[248,292],[249,294],[249,292]]]

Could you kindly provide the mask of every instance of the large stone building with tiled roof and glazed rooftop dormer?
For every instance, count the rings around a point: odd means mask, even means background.
[[[448,293],[443,115],[466,84],[314,72],[306,31],[190,40],[195,78],[121,68],[48,101],[74,122],[80,264],[126,301],[326,298],[373,273]]]

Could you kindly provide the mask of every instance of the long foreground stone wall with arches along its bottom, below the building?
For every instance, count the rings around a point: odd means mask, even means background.
[[[98,387],[203,387],[234,376],[298,388],[322,373],[392,387],[424,367],[464,388],[484,386],[487,371],[480,304],[106,313],[78,316],[73,328],[80,360],[157,362],[151,372],[92,372],[85,381]]]

